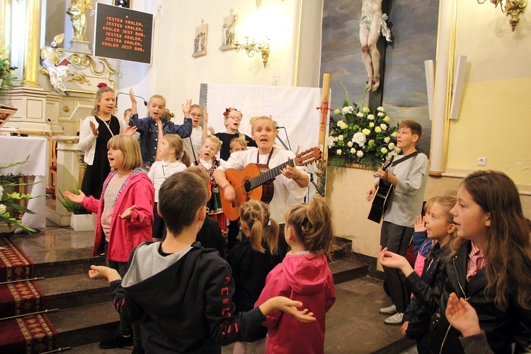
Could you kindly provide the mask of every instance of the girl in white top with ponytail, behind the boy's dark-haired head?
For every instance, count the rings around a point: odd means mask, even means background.
[[[162,137],[158,154],[162,161],[155,161],[147,173],[155,188],[153,241],[163,241],[164,236],[166,236],[166,223],[156,210],[157,205],[159,205],[159,189],[162,182],[173,173],[184,171],[190,164],[190,156],[183,147],[183,139],[175,134]]]

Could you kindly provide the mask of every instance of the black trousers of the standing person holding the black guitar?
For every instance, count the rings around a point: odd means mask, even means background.
[[[413,227],[404,227],[384,222],[382,224],[382,234],[380,234],[379,244],[387,247],[388,251],[406,256],[409,242],[413,236]],[[396,312],[405,312],[409,306],[409,292],[402,281],[400,270],[384,267],[385,278],[389,285],[389,296],[396,306]]]

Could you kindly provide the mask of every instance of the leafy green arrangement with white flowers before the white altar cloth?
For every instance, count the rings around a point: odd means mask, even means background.
[[[6,166],[0,166],[0,175],[2,174],[1,173],[2,169],[7,169],[8,167],[11,167],[11,166],[25,164],[26,162],[28,162],[29,159],[30,159],[30,156],[28,155],[28,157],[24,161],[15,162],[13,164],[7,164]],[[18,192],[13,192],[13,193],[6,193],[6,198],[4,199],[4,188],[6,187],[15,187],[18,185],[35,184],[35,183],[21,183],[19,182],[20,177],[21,177],[21,173],[17,173],[17,174],[8,173],[4,176],[0,176],[0,222],[5,222],[8,225],[10,230],[11,230],[11,227],[13,227],[13,230],[16,227],[20,227],[24,232],[31,234],[36,231],[32,229],[31,227],[28,227],[25,224],[23,224],[21,220],[17,219],[16,217],[13,217],[8,212],[8,207],[10,207],[12,210],[19,210],[21,212],[27,212],[28,214],[35,214],[35,212],[32,212],[27,207],[24,207],[23,205],[21,205],[22,204],[21,201],[41,197],[42,195],[33,197],[32,195],[28,193],[21,194]],[[37,183],[40,183],[40,182],[37,182]]]

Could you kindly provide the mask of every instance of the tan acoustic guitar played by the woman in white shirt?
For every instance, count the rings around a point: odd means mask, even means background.
[[[262,200],[265,203],[273,199],[275,188],[273,181],[287,166],[306,166],[321,159],[321,150],[316,147],[301,152],[294,159],[288,160],[273,169],[264,164],[249,164],[243,171],[227,169],[225,175],[236,191],[236,199],[229,201],[224,198],[220,188],[223,212],[227,219],[234,221],[240,216],[240,206],[247,200]]]

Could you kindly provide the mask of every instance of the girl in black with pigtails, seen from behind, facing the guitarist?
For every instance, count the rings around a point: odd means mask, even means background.
[[[232,301],[237,312],[254,308],[265,285],[265,278],[284,255],[278,249],[278,222],[270,219],[269,205],[249,200],[240,208],[241,233],[245,235],[227,256],[234,279]],[[254,343],[257,353],[265,353],[268,329],[260,326],[234,345],[234,354],[246,353],[247,343]]]

